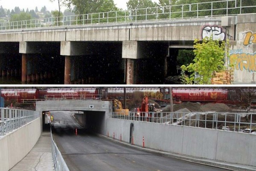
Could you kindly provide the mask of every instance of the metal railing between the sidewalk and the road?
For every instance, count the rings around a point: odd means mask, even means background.
[[[51,129],[51,138],[52,138],[52,129]],[[66,162],[64,161],[61,152],[59,151],[56,143],[52,138],[52,157],[54,163],[55,171],[69,171]]]

